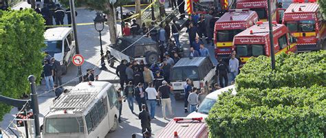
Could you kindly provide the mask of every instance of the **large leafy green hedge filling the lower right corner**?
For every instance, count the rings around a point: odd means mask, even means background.
[[[219,95],[206,122],[210,137],[325,137],[326,51],[250,58],[237,95]]]

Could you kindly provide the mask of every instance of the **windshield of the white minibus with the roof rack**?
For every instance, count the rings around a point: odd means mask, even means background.
[[[47,118],[45,125],[45,133],[84,133],[81,117]]]

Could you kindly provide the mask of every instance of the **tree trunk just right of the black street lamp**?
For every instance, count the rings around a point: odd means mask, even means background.
[[[114,7],[111,3],[107,3],[107,24],[109,25],[109,32],[110,32],[110,41],[111,44],[116,43],[117,38],[117,31],[116,31],[116,19],[114,19]]]

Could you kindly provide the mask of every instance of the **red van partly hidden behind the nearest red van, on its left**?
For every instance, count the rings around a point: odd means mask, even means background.
[[[258,21],[256,12],[249,9],[229,10],[215,22],[215,58],[228,58],[232,52],[233,37]]]

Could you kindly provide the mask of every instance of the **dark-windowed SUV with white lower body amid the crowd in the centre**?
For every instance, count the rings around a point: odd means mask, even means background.
[[[209,57],[181,58],[172,68],[171,84],[175,99],[184,95],[186,79],[193,81],[193,87],[205,88],[214,82],[215,66]]]

